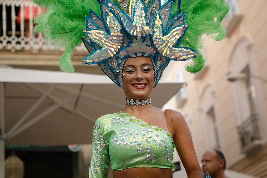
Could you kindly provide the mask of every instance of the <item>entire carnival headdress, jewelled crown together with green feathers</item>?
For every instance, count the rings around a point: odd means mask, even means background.
[[[38,24],[36,31],[45,33],[48,41],[59,38],[54,43],[60,41],[65,46],[59,64],[61,70],[74,72],[70,56],[80,41],[69,33],[80,34],[82,29],[78,27],[84,22],[81,16],[85,15],[84,34],[80,36],[89,55],[82,62],[97,64],[121,88],[123,65],[129,57],[151,59],[154,87],[171,60],[193,59],[193,65],[187,65],[187,70],[192,73],[201,70],[205,61],[199,53],[201,36],[218,33],[216,40],[221,40],[225,35],[221,21],[229,10],[224,0],[184,0],[182,7],[184,4],[189,13],[181,13],[180,0],[100,0],[99,3],[95,0],[58,0],[55,4],[52,1],[56,0],[34,0],[47,8],[46,14],[35,20]],[[65,13],[62,8],[66,9]],[[189,22],[186,21],[186,13],[189,14]],[[52,27],[51,17],[63,22],[59,27]],[[191,31],[187,32],[190,28]],[[60,29],[62,33],[58,31]]]

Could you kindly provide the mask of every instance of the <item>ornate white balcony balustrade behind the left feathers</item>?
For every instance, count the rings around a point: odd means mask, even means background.
[[[0,0],[0,6],[2,6],[0,50],[32,50],[32,52],[38,52],[39,49],[42,51],[54,50],[53,46],[45,43],[45,38],[42,34],[34,33],[33,18],[35,14],[33,12],[38,8],[41,14],[41,8],[34,4],[32,0]],[[27,19],[24,17],[25,10],[29,13],[29,17],[26,17]],[[20,24],[17,23],[18,18],[20,18]],[[11,22],[8,19],[11,19]],[[28,35],[25,33],[25,29],[29,31]],[[83,43],[78,45],[75,50],[87,51]]]

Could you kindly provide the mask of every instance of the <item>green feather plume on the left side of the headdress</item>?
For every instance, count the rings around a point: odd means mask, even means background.
[[[100,5],[97,0],[33,0],[34,3],[46,9],[34,19],[35,31],[44,33],[46,42],[55,48],[63,48],[65,53],[58,66],[64,72],[74,72],[71,56],[74,48],[82,43],[84,36],[84,17],[92,9],[100,15]]]

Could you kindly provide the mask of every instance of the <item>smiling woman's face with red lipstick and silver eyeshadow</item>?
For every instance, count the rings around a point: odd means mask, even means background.
[[[128,99],[146,99],[154,87],[153,64],[148,57],[134,57],[123,66],[124,93]]]

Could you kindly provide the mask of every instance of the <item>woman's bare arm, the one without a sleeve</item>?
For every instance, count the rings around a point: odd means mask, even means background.
[[[189,127],[181,113],[175,110],[165,110],[171,121],[174,143],[179,157],[186,170],[188,178],[203,178],[204,175],[198,163]]]

